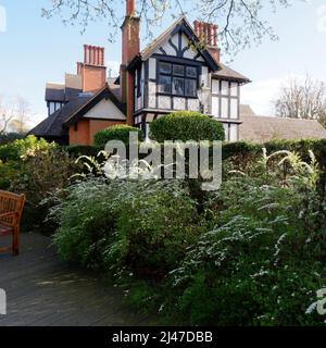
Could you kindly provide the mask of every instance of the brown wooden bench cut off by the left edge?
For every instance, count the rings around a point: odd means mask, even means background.
[[[0,247],[0,252],[20,253],[21,220],[25,200],[25,195],[0,190],[0,237],[12,236],[12,245]]]

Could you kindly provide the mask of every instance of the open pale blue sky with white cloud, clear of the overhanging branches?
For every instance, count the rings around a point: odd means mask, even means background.
[[[104,22],[91,24],[80,35],[79,27],[64,26],[59,17],[42,18],[41,8],[48,4],[49,0],[0,0],[0,95],[28,100],[35,122],[46,115],[46,82],[60,83],[65,72],[75,73],[84,44],[104,46],[106,64],[114,70],[121,59],[121,37],[110,44]],[[116,5],[124,11],[124,1]],[[241,102],[258,113],[272,114],[271,100],[290,76],[310,74],[326,80],[326,0],[293,0],[292,8],[264,15],[279,40],[265,39],[240,52],[230,66],[252,79],[242,90]],[[167,15],[154,32],[160,34],[171,22]]]

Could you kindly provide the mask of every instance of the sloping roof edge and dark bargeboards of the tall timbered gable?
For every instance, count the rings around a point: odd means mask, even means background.
[[[163,32],[158,38],[155,38],[148,47],[146,47],[128,65],[128,69],[133,69],[139,61],[147,61],[161,46],[163,46],[173,35],[178,32],[183,32],[190,41],[193,44],[200,44],[200,39],[192,29],[185,16],[181,16],[174,22],[165,32]],[[208,49],[198,49],[202,58],[205,60],[212,71],[220,70],[220,63],[217,63]]]

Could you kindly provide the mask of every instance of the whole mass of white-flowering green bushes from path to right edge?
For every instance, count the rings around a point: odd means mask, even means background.
[[[117,179],[121,167],[95,164],[104,175],[92,171],[52,209],[59,253],[110,273],[134,304],[160,307],[170,323],[323,324],[325,144],[268,144],[278,149],[269,156],[225,145],[225,181],[204,195],[196,182]]]

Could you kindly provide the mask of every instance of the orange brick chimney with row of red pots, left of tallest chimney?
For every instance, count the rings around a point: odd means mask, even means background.
[[[98,91],[106,84],[104,48],[84,45],[84,63],[77,63],[77,74],[82,75],[83,91]]]

